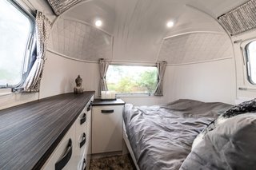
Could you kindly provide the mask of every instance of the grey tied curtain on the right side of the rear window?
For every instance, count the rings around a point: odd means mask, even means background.
[[[162,81],[166,71],[166,61],[158,62],[157,67],[158,67],[158,85],[154,92],[154,96],[163,96]]]

